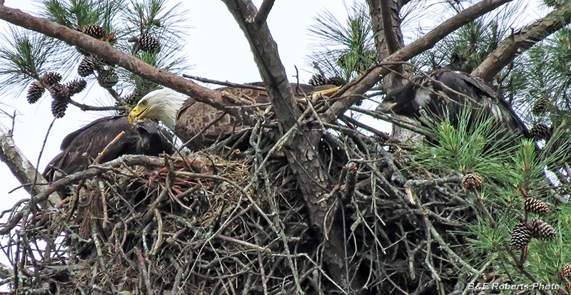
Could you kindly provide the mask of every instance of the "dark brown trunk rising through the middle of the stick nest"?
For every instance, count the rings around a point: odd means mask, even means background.
[[[284,130],[298,124],[300,111],[295,107],[293,93],[289,86],[285,69],[278,55],[276,42],[273,41],[266,21],[256,22],[258,11],[249,0],[223,0],[234,18],[240,25],[244,35],[250,43],[254,60],[262,74],[262,79],[270,94],[273,108],[276,110],[278,122]],[[266,12],[264,12],[266,14]],[[297,175],[300,189],[310,212],[311,226],[320,235],[323,242],[323,256],[328,266],[329,275],[344,288],[348,285],[345,278],[345,241],[343,240],[343,227],[335,222],[329,239],[325,239],[325,219],[333,200],[323,197],[330,191],[332,184],[318,156],[318,143],[323,136],[322,130],[299,126],[292,138],[285,145],[285,155],[288,157],[290,167]],[[334,199],[334,198],[330,198]],[[335,214],[335,213],[333,213]],[[332,218],[332,217],[330,217]],[[355,279],[351,281],[351,289],[357,291],[364,285],[364,281]],[[358,291],[363,294],[363,291]]]

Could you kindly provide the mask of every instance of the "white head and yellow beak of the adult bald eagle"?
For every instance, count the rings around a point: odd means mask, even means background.
[[[181,109],[185,96],[171,89],[158,89],[147,93],[129,113],[129,123],[133,124],[143,118],[161,121],[166,127],[174,130],[176,115]]]

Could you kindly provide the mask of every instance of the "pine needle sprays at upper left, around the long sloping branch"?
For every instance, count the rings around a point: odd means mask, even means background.
[[[173,5],[162,0],[44,0],[41,1],[41,14],[57,24],[79,31],[90,26],[101,26],[104,31],[102,41],[133,54],[151,66],[171,73],[191,68],[188,57],[182,53],[183,36],[188,22],[184,17],[186,11],[180,9],[180,4]],[[155,38],[160,43],[160,51],[141,51],[136,43],[129,41],[130,38],[143,34]],[[3,81],[0,88],[27,88],[48,71],[61,73],[64,82],[72,81],[79,75],[77,69],[84,58],[94,62],[95,75],[86,76],[87,83],[97,87],[106,86],[110,93],[107,101],[97,100],[94,104],[123,105],[120,95],[133,90],[148,93],[158,88],[155,83],[109,63],[104,56],[87,53],[79,47],[69,46],[44,35],[12,31],[4,35],[4,39],[6,45],[0,48],[0,78]],[[61,60],[76,62],[61,63]],[[111,68],[116,71],[118,82],[111,83],[108,79],[100,81]]]

